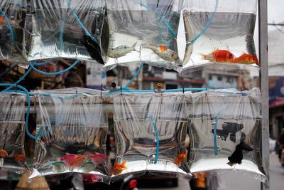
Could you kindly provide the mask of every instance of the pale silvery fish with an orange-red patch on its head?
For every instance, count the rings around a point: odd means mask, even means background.
[[[145,48],[151,49],[155,54],[157,54],[160,58],[164,60],[168,60],[170,62],[180,63],[180,58],[175,51],[168,49],[165,46],[153,46],[153,44],[148,43]]]

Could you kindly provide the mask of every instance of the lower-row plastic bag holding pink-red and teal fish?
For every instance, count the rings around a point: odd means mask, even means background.
[[[30,178],[72,173],[109,184],[107,115],[99,90],[38,90],[35,94],[37,135]]]

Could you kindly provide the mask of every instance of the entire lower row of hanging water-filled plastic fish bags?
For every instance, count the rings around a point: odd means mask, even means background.
[[[148,171],[187,178],[236,170],[266,181],[261,163],[258,88],[200,93],[114,93],[71,88],[33,92],[36,135],[30,178],[86,174],[109,183]],[[23,95],[1,94],[0,167],[23,172]],[[116,162],[107,167],[114,106]],[[109,118],[111,119],[111,118]],[[13,130],[14,129],[14,130]],[[8,135],[9,133],[9,135]],[[190,144],[186,144],[189,134]],[[111,172],[109,172],[111,171]]]

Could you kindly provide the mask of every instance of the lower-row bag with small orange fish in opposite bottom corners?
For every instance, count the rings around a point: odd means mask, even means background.
[[[116,162],[112,180],[141,176],[146,171],[190,177],[184,95],[115,95],[114,124]]]

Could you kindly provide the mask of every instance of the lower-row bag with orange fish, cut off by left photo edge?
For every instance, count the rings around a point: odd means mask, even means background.
[[[26,95],[0,94],[0,168],[22,174],[27,168],[24,150]]]

